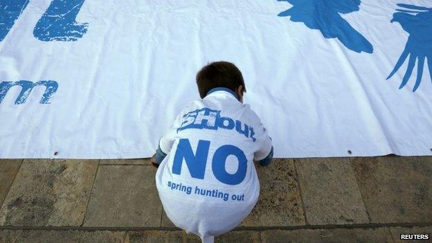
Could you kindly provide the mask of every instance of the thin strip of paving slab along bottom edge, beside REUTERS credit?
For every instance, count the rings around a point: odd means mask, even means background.
[[[393,243],[388,228],[299,229],[262,231],[263,243]]]

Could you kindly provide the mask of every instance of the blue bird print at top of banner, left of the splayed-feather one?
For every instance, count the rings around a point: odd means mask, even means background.
[[[341,14],[359,11],[360,0],[278,0],[293,6],[278,16],[291,16],[294,22],[303,22],[307,28],[320,30],[327,39],[337,38],[352,51],[372,53],[368,40],[341,17]]]

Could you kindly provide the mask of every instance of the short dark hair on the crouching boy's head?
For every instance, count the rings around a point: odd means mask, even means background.
[[[206,97],[210,89],[224,87],[236,92],[240,85],[246,92],[242,72],[231,62],[212,62],[197,73],[199,96]]]

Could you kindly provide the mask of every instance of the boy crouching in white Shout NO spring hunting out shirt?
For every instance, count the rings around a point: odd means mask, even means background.
[[[273,146],[260,118],[243,105],[242,73],[213,62],[197,74],[201,100],[183,109],[159,141],[152,164],[171,221],[213,242],[251,213],[260,194],[253,161],[268,165]]]

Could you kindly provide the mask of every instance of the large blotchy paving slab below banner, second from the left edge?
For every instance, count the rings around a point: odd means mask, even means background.
[[[0,209],[0,225],[80,226],[98,161],[25,159]]]

